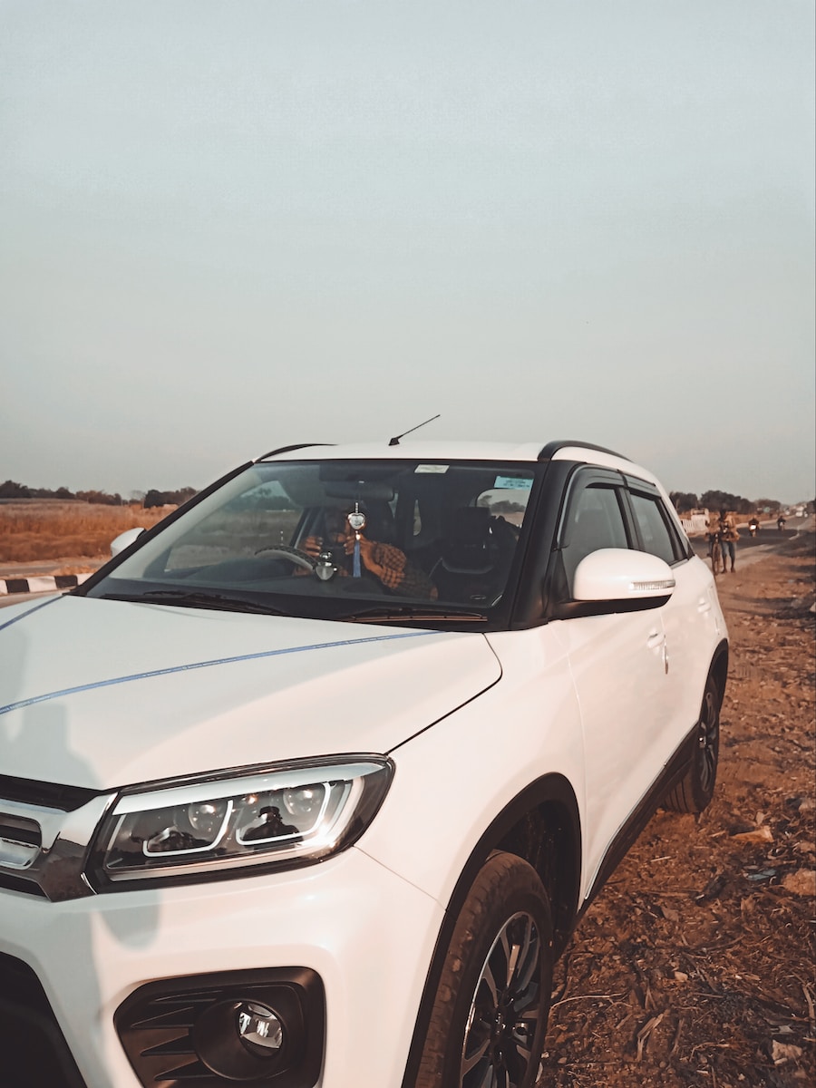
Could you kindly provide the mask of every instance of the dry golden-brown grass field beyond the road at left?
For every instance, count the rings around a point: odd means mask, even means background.
[[[149,529],[168,507],[103,506],[79,500],[13,499],[0,503],[0,562],[66,559],[88,569],[110,557],[114,536],[144,526]],[[69,571],[66,571],[69,572]]]

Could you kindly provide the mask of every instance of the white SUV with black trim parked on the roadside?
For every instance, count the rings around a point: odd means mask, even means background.
[[[714,580],[584,443],[307,445],[0,613],[4,1088],[530,1088],[717,767]]]

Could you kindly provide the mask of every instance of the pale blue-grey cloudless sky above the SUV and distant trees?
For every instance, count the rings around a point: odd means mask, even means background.
[[[0,0],[0,481],[200,487],[441,412],[813,497],[814,32],[813,0]]]

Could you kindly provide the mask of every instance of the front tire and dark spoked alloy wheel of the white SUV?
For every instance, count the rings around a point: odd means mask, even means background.
[[[544,886],[522,858],[494,853],[457,918],[416,1088],[532,1088],[552,977]]]

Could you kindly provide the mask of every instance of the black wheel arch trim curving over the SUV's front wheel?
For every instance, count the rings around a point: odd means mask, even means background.
[[[425,977],[403,1088],[413,1088],[445,954],[459,912],[477,874],[494,851],[522,857],[547,890],[553,914],[554,956],[578,918],[581,882],[581,820],[576,794],[562,775],[544,775],[526,787],[492,820],[459,875],[445,911]]]

